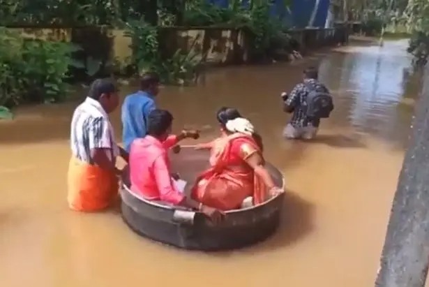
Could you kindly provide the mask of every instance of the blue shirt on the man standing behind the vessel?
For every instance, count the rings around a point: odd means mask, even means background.
[[[149,112],[155,110],[153,96],[146,91],[137,91],[126,96],[122,104],[122,142],[127,152],[135,138],[146,135],[146,123]]]

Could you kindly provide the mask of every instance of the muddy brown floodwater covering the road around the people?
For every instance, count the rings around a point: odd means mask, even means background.
[[[137,237],[119,214],[66,205],[76,103],[20,108],[0,122],[0,281],[5,287],[372,286],[421,80],[406,41],[351,46],[292,64],[223,68],[198,87],[168,87],[158,105],[174,126],[217,134],[215,112],[238,107],[287,179],[278,233],[226,253],[187,252]],[[314,142],[281,136],[279,94],[308,64],[336,97]],[[131,88],[123,88],[127,94]],[[112,115],[120,138],[119,111]]]

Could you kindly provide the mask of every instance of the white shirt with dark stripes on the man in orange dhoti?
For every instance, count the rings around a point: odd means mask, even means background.
[[[91,149],[106,149],[111,161],[115,161],[119,154],[109,117],[93,98],[86,98],[73,113],[70,147],[73,156],[89,164],[93,164]]]

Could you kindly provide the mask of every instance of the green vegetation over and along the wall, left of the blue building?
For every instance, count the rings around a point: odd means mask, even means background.
[[[129,61],[119,65],[127,75],[157,71],[164,82],[186,84],[195,77],[202,59],[193,52],[165,52],[159,27],[245,29],[250,59],[260,61],[289,44],[282,32],[286,27],[269,16],[270,6],[270,0],[250,0],[246,9],[241,0],[230,0],[227,8],[204,0],[0,0],[0,105],[61,101],[69,88],[66,82],[76,71],[101,75],[107,66],[115,66],[107,59],[94,59],[94,52],[82,56],[71,43],[25,38],[4,27],[124,29],[133,51]],[[99,30],[108,42],[105,29]],[[113,72],[117,71],[110,69],[107,75]]]

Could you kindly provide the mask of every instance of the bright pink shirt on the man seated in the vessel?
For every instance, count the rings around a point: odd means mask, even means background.
[[[177,143],[175,135],[160,142],[151,135],[133,140],[130,147],[131,190],[149,200],[178,205],[184,195],[176,189],[170,173],[167,149]]]

